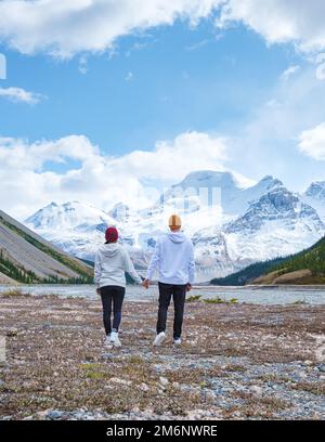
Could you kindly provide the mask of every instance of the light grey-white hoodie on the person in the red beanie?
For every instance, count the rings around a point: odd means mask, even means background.
[[[94,282],[98,288],[105,286],[126,287],[126,272],[141,284],[128,251],[118,243],[103,244],[95,256]]]

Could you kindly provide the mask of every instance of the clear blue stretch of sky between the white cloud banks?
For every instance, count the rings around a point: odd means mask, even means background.
[[[151,150],[186,130],[218,131],[248,119],[297,63],[290,48],[266,48],[243,26],[218,31],[211,21],[121,38],[115,51],[89,55],[82,75],[82,55],[61,62],[2,47],[5,87],[20,84],[48,98],[37,106],[2,100],[2,135],[36,141],[83,133],[115,155]]]

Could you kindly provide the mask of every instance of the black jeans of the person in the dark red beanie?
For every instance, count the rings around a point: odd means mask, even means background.
[[[118,332],[118,327],[121,321],[121,308],[126,295],[125,287],[119,286],[106,286],[101,288],[101,297],[103,303],[103,320],[106,335],[109,335],[112,329]],[[113,328],[110,323],[113,304]]]

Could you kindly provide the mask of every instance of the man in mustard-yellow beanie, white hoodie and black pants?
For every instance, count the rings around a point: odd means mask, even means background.
[[[170,233],[158,238],[146,278],[142,283],[148,288],[155,270],[158,270],[159,310],[154,346],[160,346],[166,339],[167,312],[171,297],[174,306],[173,342],[181,343],[186,291],[191,290],[195,276],[193,244],[181,232],[181,218],[172,214],[169,218]]]

